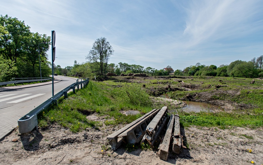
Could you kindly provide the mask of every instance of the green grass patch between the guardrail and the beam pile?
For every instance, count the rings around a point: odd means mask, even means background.
[[[76,91],[76,94],[69,93],[67,99],[59,99],[58,106],[52,106],[46,112],[38,115],[38,123],[40,127],[47,127],[48,124],[58,123],[63,127],[69,128],[72,132],[79,132],[86,128],[100,129],[103,124],[117,125],[127,124],[142,114],[135,116],[126,116],[122,111],[138,110],[141,113],[149,112],[152,107],[147,100],[141,99],[139,105],[134,105],[131,99],[143,97],[145,93],[137,93],[134,86],[133,88],[124,88],[125,90],[119,91],[104,86],[97,82],[92,82],[86,88]],[[126,90],[130,93],[130,97],[125,97]],[[140,96],[142,95],[142,96]],[[136,97],[136,98],[135,98]],[[148,106],[145,106],[147,105]],[[142,106],[144,105],[144,106]],[[96,113],[99,116],[105,116],[106,121],[91,121],[86,119],[86,116]]]

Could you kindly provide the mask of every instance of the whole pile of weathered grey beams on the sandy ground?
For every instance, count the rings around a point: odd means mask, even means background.
[[[165,127],[166,120],[169,120],[163,142],[159,146],[158,154],[160,159],[167,160],[171,140],[172,151],[179,154],[183,146],[180,134],[179,116],[167,116],[167,107],[153,109],[139,119],[109,135],[107,139],[113,150],[116,150],[122,143],[149,143],[151,146],[160,136]],[[184,147],[184,146],[183,146]]]

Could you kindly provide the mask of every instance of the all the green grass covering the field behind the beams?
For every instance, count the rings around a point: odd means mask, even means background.
[[[122,79],[121,79],[122,78]],[[52,106],[45,113],[38,116],[40,127],[47,127],[54,122],[69,128],[72,132],[79,132],[86,128],[101,129],[102,126],[128,124],[153,108],[161,108],[162,104],[153,103],[147,90],[163,90],[168,84],[180,86],[181,83],[167,79],[144,79],[142,77],[121,77],[120,80],[107,80],[103,82],[90,81],[86,88],[77,90],[76,94],[68,94],[67,99],[61,98],[58,106]],[[184,84],[198,87],[193,91],[168,91],[168,95],[176,100],[186,95],[211,93],[209,100],[230,100],[238,104],[245,104],[243,109],[229,112],[181,112],[180,124],[183,127],[190,125],[218,127],[221,129],[231,127],[258,128],[263,126],[263,90],[262,85],[249,84],[252,79],[236,80],[232,77],[186,77],[176,78]],[[193,79],[193,80],[192,80]],[[221,80],[221,81],[219,81]],[[140,81],[140,83],[138,83]],[[142,83],[145,88],[142,88]],[[190,84],[191,83],[191,84]],[[215,85],[224,84],[227,87],[215,90]],[[200,96],[201,97],[201,96]],[[173,107],[169,108],[172,109]],[[126,116],[124,111],[137,110],[140,114]],[[104,121],[91,121],[86,116],[95,114],[103,116]],[[144,147],[145,148],[145,147]],[[146,147],[147,148],[147,147]]]

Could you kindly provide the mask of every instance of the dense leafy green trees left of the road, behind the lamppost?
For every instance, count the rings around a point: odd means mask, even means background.
[[[45,44],[40,44],[43,42]],[[24,21],[1,15],[0,81],[10,81],[11,78],[40,77],[40,65],[42,77],[48,77],[51,73],[46,54],[49,45],[50,36],[32,33]]]

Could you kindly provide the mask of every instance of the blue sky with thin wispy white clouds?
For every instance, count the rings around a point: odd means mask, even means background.
[[[54,30],[54,63],[62,68],[86,62],[100,37],[114,49],[108,63],[158,70],[263,55],[262,0],[1,0],[0,6],[1,15],[24,21],[33,33]]]

